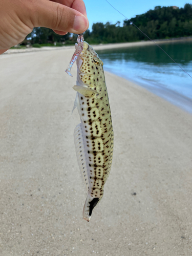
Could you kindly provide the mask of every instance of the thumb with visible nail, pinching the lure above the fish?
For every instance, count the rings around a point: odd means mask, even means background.
[[[38,1],[31,12],[33,27],[80,34],[89,27],[87,17],[75,9],[52,1]]]

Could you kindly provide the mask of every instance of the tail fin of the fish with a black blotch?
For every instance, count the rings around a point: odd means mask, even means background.
[[[90,221],[93,208],[97,205],[101,198],[93,198],[89,194],[87,196],[86,202],[84,203],[84,208],[82,212],[82,217],[86,221]]]

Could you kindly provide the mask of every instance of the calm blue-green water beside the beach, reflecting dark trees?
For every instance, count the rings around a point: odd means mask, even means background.
[[[192,42],[161,45],[192,76]],[[135,81],[147,90],[192,113],[192,78],[157,46],[97,51],[104,70]]]

